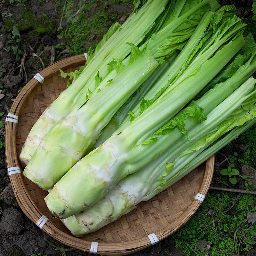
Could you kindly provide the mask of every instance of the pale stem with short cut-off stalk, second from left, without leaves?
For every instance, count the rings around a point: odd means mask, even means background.
[[[24,175],[45,190],[52,188],[93,146],[117,109],[157,66],[158,62],[149,50],[140,52],[127,67],[122,67],[122,72],[108,86],[99,92],[95,91],[92,99],[83,107],[71,112],[52,128],[40,142]]]

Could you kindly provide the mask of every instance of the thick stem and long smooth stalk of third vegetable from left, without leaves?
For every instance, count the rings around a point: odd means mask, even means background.
[[[138,163],[133,164],[136,161],[129,157],[129,152],[136,146],[138,140],[147,139],[154,131],[170,120],[227,64],[242,47],[243,42],[243,37],[239,36],[225,45],[210,60],[205,62],[196,74],[189,76],[186,83],[181,83],[180,86],[166,94],[162,100],[154,102],[121,134],[111,136],[99,148],[93,150],[74,165],[45,197],[51,212],[61,219],[80,212],[99,201],[126,175],[141,169],[143,166],[137,168]],[[208,72],[210,68],[211,73]],[[181,95],[182,97],[180,97]],[[168,104],[169,102],[172,104]],[[155,158],[148,159],[144,165]],[[74,182],[76,188],[79,189],[70,188],[70,184]]]

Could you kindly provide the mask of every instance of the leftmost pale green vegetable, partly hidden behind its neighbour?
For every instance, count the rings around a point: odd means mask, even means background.
[[[168,18],[165,12],[168,13],[173,6],[169,5],[169,8],[165,9],[167,4],[169,4],[168,0],[149,0],[137,13],[132,13],[122,26],[116,23],[108,30],[95,52],[88,56],[87,66],[73,74],[76,78],[75,81],[46,108],[32,127],[20,154],[20,161],[24,166],[28,164],[43,137],[70,113],[79,94],[82,94],[80,99],[84,101],[84,92],[94,91],[98,85],[97,81],[95,83],[97,72],[101,77],[105,77],[108,72],[107,64],[112,58],[123,60],[129,54],[131,47],[126,42],[134,45],[143,43],[145,35],[158,17]],[[156,24],[158,23],[156,22]],[[79,76],[76,77],[77,75]]]

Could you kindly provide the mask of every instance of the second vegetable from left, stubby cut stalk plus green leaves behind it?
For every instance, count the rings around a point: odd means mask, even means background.
[[[141,45],[140,49],[127,43],[132,46],[130,57],[122,62],[114,59],[108,64],[108,73],[103,79],[99,75],[96,76],[97,90],[92,94],[88,91],[91,94],[89,100],[87,91],[82,90],[73,111],[55,125],[40,142],[24,170],[24,175],[41,188],[52,188],[88,152],[116,111],[156,69],[158,61],[162,62],[164,57],[172,56],[176,49],[184,46],[185,41],[195,30],[195,24],[198,24],[208,9],[207,0],[199,1],[194,6],[190,4],[187,9],[179,11],[179,18],[166,24],[151,36],[146,44]],[[174,10],[177,11],[175,8]],[[240,37],[240,41],[237,42],[242,43],[242,40]],[[231,51],[228,55],[230,57],[224,58],[223,65],[234,53]],[[220,69],[222,67],[220,65]],[[214,74],[211,78],[212,76]],[[184,102],[188,100],[185,99]],[[183,105],[179,105],[176,112],[182,107]]]

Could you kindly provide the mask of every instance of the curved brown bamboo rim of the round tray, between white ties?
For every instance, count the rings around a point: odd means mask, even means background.
[[[71,56],[63,60],[59,60],[52,65],[44,68],[40,71],[40,74],[45,78],[49,76],[53,76],[60,69],[65,69],[70,65],[74,64],[84,64],[85,62],[85,55],[80,54],[76,56]],[[12,107],[9,113],[12,113],[16,116],[20,116],[21,106],[24,101],[27,99],[29,93],[40,83],[35,79],[32,78],[28,84],[26,84],[23,89],[20,91],[16,99],[14,100]],[[6,155],[6,162],[7,167],[14,167],[20,166],[17,150],[16,150],[16,130],[17,125],[12,122],[6,122],[5,124],[5,155]],[[205,170],[208,170],[207,172]],[[204,175],[202,179],[202,183],[198,190],[198,193],[206,195],[210,183],[213,176],[214,170],[214,155],[211,156],[206,160],[205,168],[204,168]],[[26,214],[26,216],[36,223],[43,214],[38,210],[33,199],[29,195],[27,188],[25,187],[23,180],[22,180],[21,173],[10,175],[10,181],[12,184],[12,189],[14,191],[15,197],[20,205],[22,211]],[[188,208],[171,224],[164,227],[163,229],[155,232],[159,241],[163,240],[167,236],[173,234],[176,230],[182,227],[196,212],[196,210],[201,205],[201,201],[194,199],[192,203],[188,206]],[[44,230],[47,234],[55,238],[56,240],[64,243],[70,247],[74,247],[80,249],[84,252],[89,252],[91,248],[92,242],[81,240],[72,235],[68,235],[65,232],[58,229],[52,222],[47,221],[46,224],[43,226],[42,230]],[[68,240],[67,240],[68,236]],[[151,242],[148,236],[143,238],[135,239],[132,241],[127,242],[118,242],[118,243],[98,243],[98,252],[102,255],[127,255],[133,252],[137,252],[142,250],[151,245]]]

